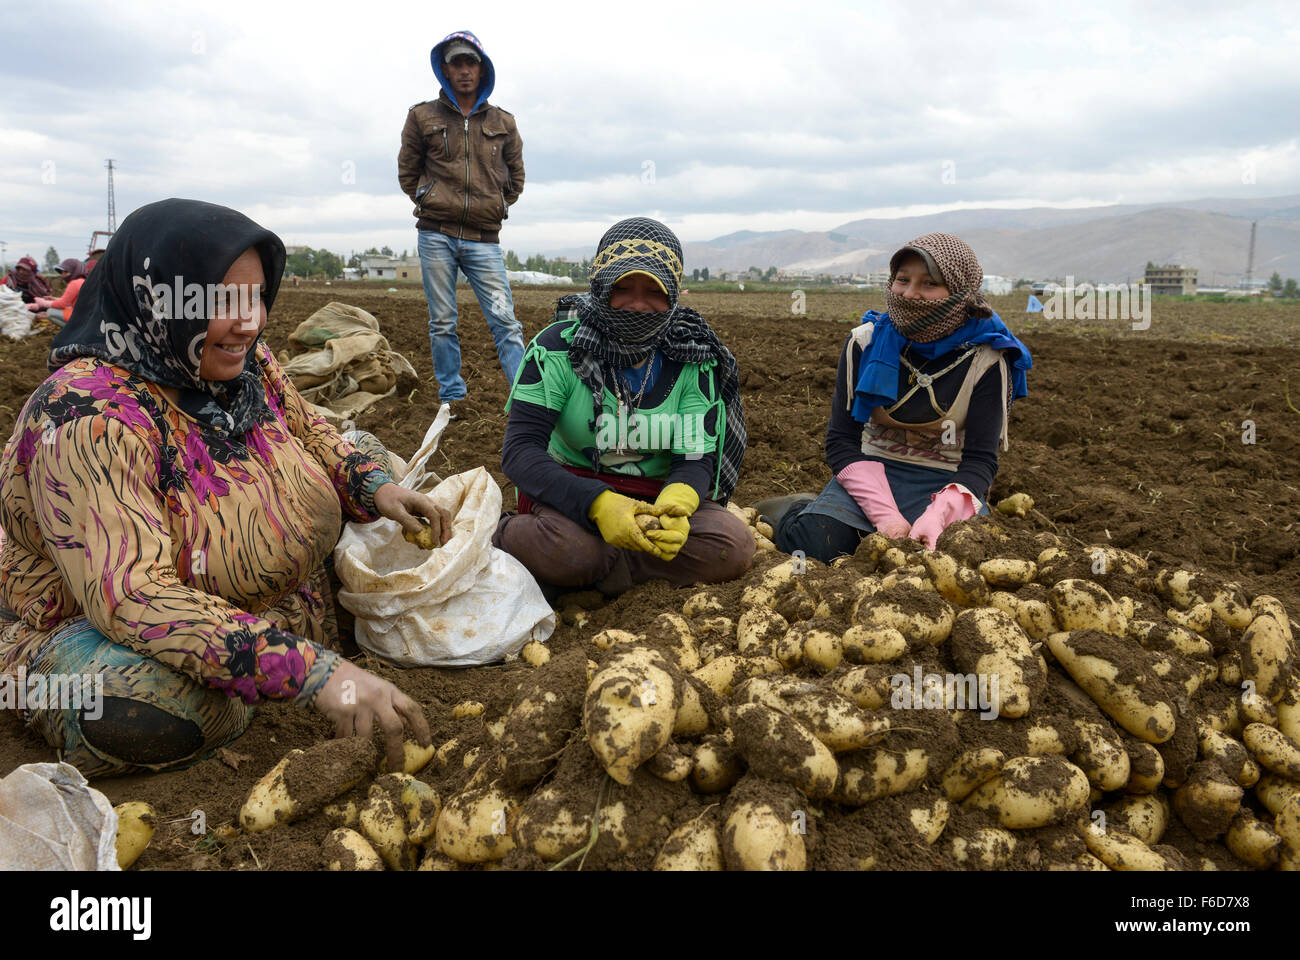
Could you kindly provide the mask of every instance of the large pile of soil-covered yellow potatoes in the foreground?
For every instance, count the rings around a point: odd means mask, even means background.
[[[324,809],[332,869],[1300,868],[1282,604],[1000,513],[937,550],[764,552],[649,622],[575,607],[581,647],[510,674],[508,710],[452,710],[443,803],[408,766],[244,827]]]

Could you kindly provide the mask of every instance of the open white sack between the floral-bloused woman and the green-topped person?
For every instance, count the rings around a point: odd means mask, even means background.
[[[425,464],[450,419],[443,405],[400,483],[424,490]],[[478,666],[546,640],[555,613],[532,574],[491,545],[500,488],[482,467],[443,480],[430,497],[452,515],[451,540],[421,550],[394,520],[348,523],[334,548],[339,602],[356,617],[356,643],[398,666]]]

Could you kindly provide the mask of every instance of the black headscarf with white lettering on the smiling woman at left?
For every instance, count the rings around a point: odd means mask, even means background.
[[[173,303],[177,287],[207,291],[220,284],[239,255],[261,258],[270,310],[285,272],[285,245],[243,213],[202,200],[159,200],[131,213],[86,278],[77,311],[49,351],[49,368],[78,356],[98,356],[161,386],[176,388],[181,408],[208,429],[239,437],[270,416],[257,367],[257,341],[234,380],[199,377],[208,330],[208,298],[186,311]],[[164,295],[166,287],[172,293]],[[170,304],[170,310],[168,310]],[[190,312],[191,316],[186,316]],[[192,313],[200,313],[192,316]]]

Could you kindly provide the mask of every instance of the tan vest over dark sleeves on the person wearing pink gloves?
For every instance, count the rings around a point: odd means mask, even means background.
[[[854,343],[863,351],[871,343],[874,325],[868,321],[854,328],[852,340],[845,347],[849,355],[845,358],[845,375],[853,376],[853,346]],[[862,453],[867,457],[880,457],[887,460],[901,463],[915,463],[931,470],[946,470],[957,472],[962,462],[962,450],[966,447],[966,412],[970,407],[971,392],[988,368],[998,364],[1002,371],[1002,393],[1006,395],[1006,363],[1002,360],[1002,351],[994,350],[987,343],[982,343],[971,358],[971,364],[966,371],[961,390],[957,392],[953,405],[941,415],[928,423],[900,423],[889,414],[897,410],[902,402],[894,403],[888,410],[876,407],[871,411],[871,420],[862,427]],[[853,398],[857,382],[845,384],[849,410],[853,410]],[[924,388],[919,388],[924,393]],[[1008,449],[1006,437],[1006,408],[1002,412],[1002,449]]]

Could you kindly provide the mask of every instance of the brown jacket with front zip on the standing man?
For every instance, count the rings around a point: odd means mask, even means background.
[[[500,221],[524,193],[515,117],[489,103],[465,117],[446,92],[417,103],[402,127],[398,183],[421,230],[497,243]]]

